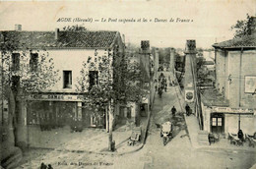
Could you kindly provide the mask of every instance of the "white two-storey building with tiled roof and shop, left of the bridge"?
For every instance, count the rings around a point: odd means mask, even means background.
[[[124,56],[124,43],[118,31],[1,31],[1,39],[14,38],[19,45],[26,44],[30,51],[13,51],[12,64],[22,64],[21,53],[28,55],[47,55],[54,63],[58,80],[50,87],[31,93],[27,105],[22,111],[22,128],[27,125],[37,128],[42,125],[52,128],[71,126],[81,121],[84,127],[105,128],[104,112],[94,112],[85,105],[80,94],[78,79],[81,76],[83,63],[89,59],[93,62],[101,57],[118,59]],[[30,60],[30,63],[32,59]],[[18,66],[19,67],[19,66]],[[110,68],[111,69],[111,68]],[[22,70],[18,70],[22,71]],[[98,70],[86,70],[89,87],[97,84]],[[118,113],[117,113],[118,115]],[[39,128],[38,128],[39,129]],[[26,135],[26,133],[25,133]],[[26,140],[24,138],[24,140]]]

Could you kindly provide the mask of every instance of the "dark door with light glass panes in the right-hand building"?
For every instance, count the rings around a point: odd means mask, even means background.
[[[224,133],[224,114],[213,113],[211,114],[211,128],[212,133]]]

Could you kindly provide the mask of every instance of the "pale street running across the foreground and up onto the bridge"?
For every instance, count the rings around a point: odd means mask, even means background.
[[[165,75],[166,76],[166,75]],[[146,144],[137,152],[118,155],[67,152],[52,150],[19,168],[39,167],[41,162],[53,168],[237,168],[247,169],[256,162],[254,152],[226,149],[195,149],[191,146],[186,124],[181,113],[181,100],[177,95],[178,86],[169,86],[161,98],[155,97],[151,126]],[[172,117],[170,109],[175,106],[177,113]],[[174,124],[174,138],[165,146],[160,138],[156,123],[170,120]]]

